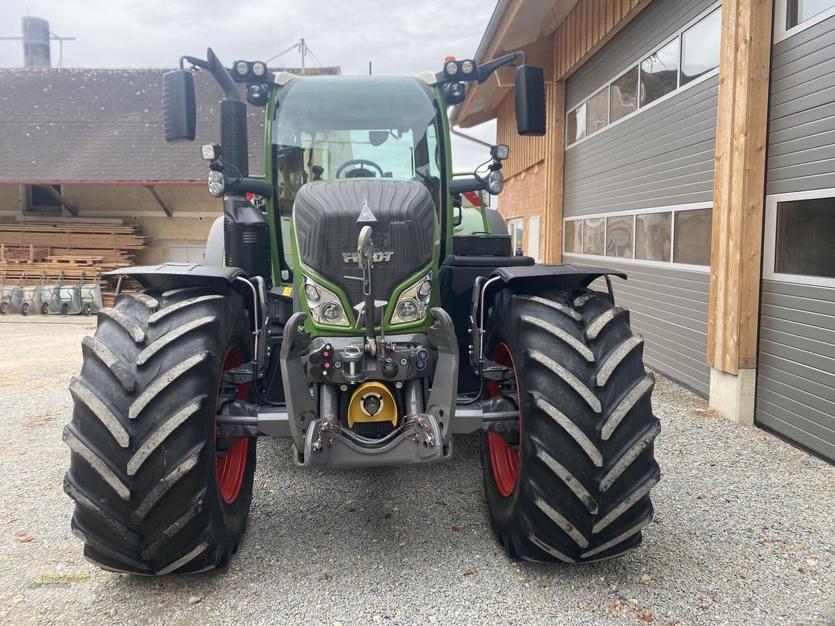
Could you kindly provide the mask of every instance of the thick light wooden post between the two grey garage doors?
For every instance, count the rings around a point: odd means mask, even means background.
[[[772,0],[722,4],[707,362],[757,365]]]

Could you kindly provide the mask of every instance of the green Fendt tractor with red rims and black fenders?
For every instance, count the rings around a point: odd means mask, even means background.
[[[416,77],[309,77],[227,69],[210,49],[164,75],[170,141],[195,137],[195,69],[224,90],[220,142],[202,147],[223,217],[205,265],[114,271],[142,289],[117,295],[83,341],[64,487],[89,561],[225,566],[258,437],[325,469],[443,462],[456,435],[479,433],[511,557],[589,562],[639,545],[660,427],[617,273],[513,255],[481,202],[464,220],[462,194],[501,192],[508,149],[453,176],[448,107],[518,61],[518,130],[541,135],[543,72],[524,53]],[[238,83],[266,109],[261,176]]]

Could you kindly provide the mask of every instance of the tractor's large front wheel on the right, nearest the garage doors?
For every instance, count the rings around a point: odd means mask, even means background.
[[[493,395],[518,397],[518,439],[485,433],[488,507],[513,557],[578,563],[636,548],[660,471],[655,379],[629,313],[592,290],[501,291],[486,350],[512,367]]]

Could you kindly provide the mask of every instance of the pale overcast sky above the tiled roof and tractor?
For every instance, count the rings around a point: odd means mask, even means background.
[[[205,49],[229,67],[235,59],[266,60],[300,38],[322,65],[342,73],[438,71],[443,58],[472,57],[493,12],[493,0],[0,0],[0,35],[19,36],[24,15],[44,18],[63,43],[65,68],[171,68],[180,56],[205,58]],[[58,43],[52,44],[58,66]],[[286,53],[272,65],[297,67]],[[310,57],[307,63],[316,64]],[[23,44],[0,41],[0,67],[23,65]],[[0,85],[2,90],[2,85]],[[495,125],[467,131],[493,143]],[[488,159],[488,149],[453,137],[456,169]]]

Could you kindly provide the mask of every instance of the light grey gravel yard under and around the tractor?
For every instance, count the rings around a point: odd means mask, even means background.
[[[353,472],[298,470],[285,443],[262,440],[230,568],[103,572],[69,533],[61,487],[67,384],[92,331],[0,323],[0,622],[835,623],[835,467],[662,377],[655,523],[624,558],[509,561],[475,437],[446,464]],[[58,573],[89,581],[35,583]]]

